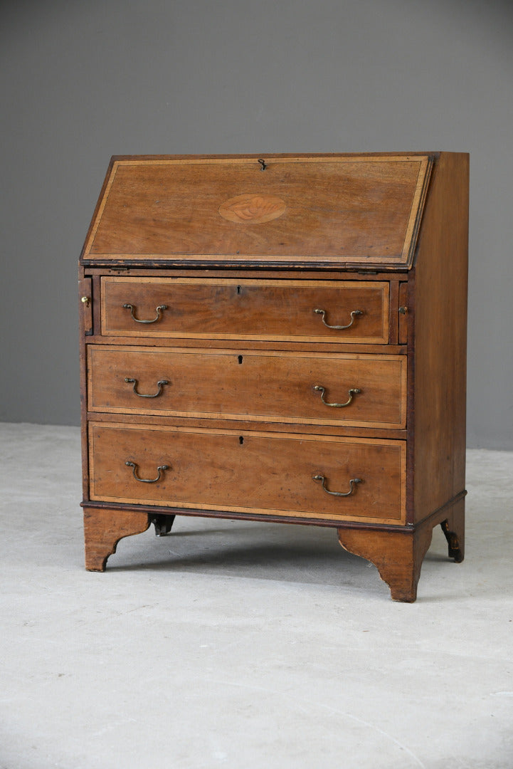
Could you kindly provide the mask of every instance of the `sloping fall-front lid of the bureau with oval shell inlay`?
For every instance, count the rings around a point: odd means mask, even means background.
[[[269,156],[262,171],[253,157],[116,160],[84,259],[409,265],[431,163],[429,155]],[[242,218],[227,220],[220,211],[234,198],[260,199],[263,215],[242,206]],[[264,201],[278,218],[265,215]]]

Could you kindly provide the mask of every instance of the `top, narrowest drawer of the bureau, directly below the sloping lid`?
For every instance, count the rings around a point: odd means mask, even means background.
[[[101,333],[387,344],[389,284],[108,276]]]

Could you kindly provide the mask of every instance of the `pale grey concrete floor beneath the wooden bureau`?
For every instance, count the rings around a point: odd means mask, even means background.
[[[415,604],[329,529],[177,518],[84,571],[76,428],[0,426],[2,769],[511,769],[513,453]]]

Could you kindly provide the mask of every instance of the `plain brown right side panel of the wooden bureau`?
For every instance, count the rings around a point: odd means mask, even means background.
[[[409,279],[414,521],[465,491],[467,252],[468,155],[442,152]]]

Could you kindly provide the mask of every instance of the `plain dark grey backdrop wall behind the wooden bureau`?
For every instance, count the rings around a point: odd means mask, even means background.
[[[15,0],[0,420],[78,424],[77,258],[113,154],[471,153],[468,444],[513,448],[513,4]]]

